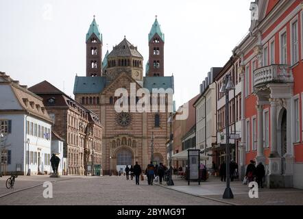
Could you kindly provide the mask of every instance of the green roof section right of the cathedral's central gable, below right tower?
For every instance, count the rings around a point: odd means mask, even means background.
[[[172,88],[173,92],[175,91],[173,85],[173,76],[171,77],[144,77],[143,79],[143,88],[147,88],[150,92],[152,92],[153,88],[163,88],[167,90],[168,88]]]

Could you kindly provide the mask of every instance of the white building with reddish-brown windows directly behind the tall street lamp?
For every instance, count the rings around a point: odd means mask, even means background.
[[[219,92],[226,75],[230,75],[234,83],[234,90],[229,92],[229,133],[233,134],[230,139],[230,160],[241,166],[243,154],[241,154],[241,115],[243,115],[243,104],[241,104],[241,77],[239,75],[239,57],[232,56],[223,66],[223,69],[215,78],[217,84],[217,146],[213,149],[217,167],[226,159],[226,96]],[[227,83],[228,81],[226,81]],[[226,161],[226,160],[225,160]],[[241,171],[241,170],[239,170]]]

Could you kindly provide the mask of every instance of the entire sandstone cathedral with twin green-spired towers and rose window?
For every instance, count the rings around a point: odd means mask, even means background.
[[[104,127],[102,142],[102,171],[109,175],[125,165],[135,162],[145,168],[149,162],[167,165],[167,141],[169,140],[169,114],[171,102],[168,94],[152,94],[154,89],[173,90],[173,76],[164,74],[165,38],[158,20],[154,21],[149,38],[149,60],[143,73],[143,56],[138,48],[125,37],[102,60],[103,38],[93,22],[86,34],[86,77],[75,77],[75,100],[97,114]],[[144,90],[150,94],[138,92]],[[125,99],[116,94],[123,89],[133,94]],[[156,95],[156,96],[155,96]],[[150,108],[136,109],[145,97]],[[117,111],[117,101],[123,99],[128,110]],[[161,109],[159,105],[165,107]],[[125,106],[125,105],[124,105]],[[135,106],[133,110],[131,108]]]

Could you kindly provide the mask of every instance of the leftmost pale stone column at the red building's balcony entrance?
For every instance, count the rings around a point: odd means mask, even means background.
[[[263,147],[263,105],[256,105],[258,111],[258,148],[256,162],[265,164],[264,147]]]

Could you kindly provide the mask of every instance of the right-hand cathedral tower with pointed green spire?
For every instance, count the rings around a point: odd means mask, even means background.
[[[164,76],[164,34],[156,20],[148,34],[149,60],[146,65],[146,76],[163,77]]]

